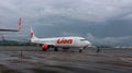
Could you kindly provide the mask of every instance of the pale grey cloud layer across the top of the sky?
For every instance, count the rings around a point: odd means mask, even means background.
[[[43,19],[43,21],[46,19],[45,23],[48,24],[53,20],[59,22],[62,17],[105,22],[131,13],[131,0],[120,0],[120,3],[119,0],[1,0],[0,7],[4,9],[0,11],[2,12],[0,15],[8,14],[6,17],[23,16],[26,23],[35,24],[41,22],[38,19]]]

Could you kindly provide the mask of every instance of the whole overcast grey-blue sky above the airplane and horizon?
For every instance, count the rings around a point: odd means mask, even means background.
[[[132,0],[0,0],[0,33],[7,39],[29,39],[32,26],[37,37],[82,36],[92,44],[132,45]]]

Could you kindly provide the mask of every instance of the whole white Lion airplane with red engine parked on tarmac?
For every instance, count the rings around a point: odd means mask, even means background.
[[[54,51],[58,51],[58,48],[69,49],[79,48],[79,52],[87,47],[91,47],[91,42],[82,37],[54,37],[54,38],[37,38],[31,27],[31,42],[37,44],[42,47],[43,51],[50,48],[54,48]]]

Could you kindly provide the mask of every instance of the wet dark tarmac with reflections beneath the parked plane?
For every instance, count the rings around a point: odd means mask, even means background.
[[[41,51],[0,47],[0,73],[131,73],[132,49]]]

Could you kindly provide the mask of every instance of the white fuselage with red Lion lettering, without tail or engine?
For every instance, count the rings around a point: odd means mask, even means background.
[[[34,44],[46,44],[54,47],[88,47],[91,44],[82,37],[54,37],[54,38],[34,38],[31,39]]]

